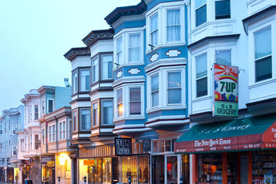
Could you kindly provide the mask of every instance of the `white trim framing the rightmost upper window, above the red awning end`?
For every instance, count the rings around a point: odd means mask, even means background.
[[[272,78],[271,79],[265,79],[263,81],[255,81],[256,76],[255,76],[255,33],[265,30],[266,28],[271,28],[271,51],[272,51]],[[275,19],[274,17],[270,17],[269,19],[265,19],[262,21],[259,21],[253,25],[250,25],[248,28],[248,60],[249,60],[249,88],[256,86],[256,85],[261,85],[262,83],[268,83],[270,81],[275,81],[276,79],[276,43],[275,36],[276,32],[276,24],[275,24]]]

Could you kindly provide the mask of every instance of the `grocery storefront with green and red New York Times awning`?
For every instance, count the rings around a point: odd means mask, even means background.
[[[276,183],[276,116],[194,125],[175,142],[193,154],[193,183]]]

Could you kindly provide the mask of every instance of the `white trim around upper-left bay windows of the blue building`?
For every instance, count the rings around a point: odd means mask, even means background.
[[[141,61],[129,61],[129,50],[128,45],[129,35],[130,34],[140,34],[140,59]],[[122,38],[122,63],[118,66],[118,68],[123,67],[124,65],[141,65],[144,64],[144,27],[141,28],[126,28],[121,30],[114,36],[115,44],[114,44],[114,53],[113,53],[113,62],[118,63],[117,61],[117,39]],[[113,70],[117,70],[117,65],[113,65]]]

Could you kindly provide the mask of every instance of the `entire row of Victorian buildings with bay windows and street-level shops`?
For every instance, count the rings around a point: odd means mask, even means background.
[[[144,0],[105,20],[64,54],[72,88],[3,112],[1,178],[276,183],[275,0]]]

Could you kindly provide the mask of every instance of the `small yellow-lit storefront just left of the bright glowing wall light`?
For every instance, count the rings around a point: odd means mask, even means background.
[[[55,183],[55,156],[41,156],[41,182]]]

